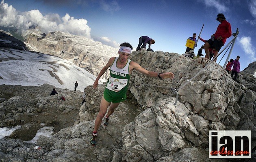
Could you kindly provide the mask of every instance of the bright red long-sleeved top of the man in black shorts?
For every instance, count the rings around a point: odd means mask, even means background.
[[[223,45],[224,45],[226,40],[227,40],[227,38],[229,38],[231,36],[231,34],[232,34],[232,32],[231,32],[231,25],[230,25],[230,23],[228,21],[226,21],[226,20],[223,20],[219,24],[219,26],[218,26],[215,34],[214,34],[214,38],[217,39],[219,36],[221,36],[223,38],[221,40],[222,40]]]

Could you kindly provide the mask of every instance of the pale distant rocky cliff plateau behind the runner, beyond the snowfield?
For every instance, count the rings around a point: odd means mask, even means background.
[[[109,58],[118,55],[118,49],[64,32],[44,34],[37,30],[28,32],[24,37],[26,43],[35,47],[37,51],[69,60],[95,76],[98,76]],[[108,73],[105,73],[102,78],[107,79]]]

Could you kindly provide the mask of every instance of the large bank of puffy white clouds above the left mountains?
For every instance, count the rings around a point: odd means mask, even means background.
[[[87,26],[87,20],[74,19],[67,13],[60,18],[58,14],[42,15],[39,10],[18,12],[13,6],[8,6],[2,0],[0,4],[0,26],[16,28],[24,32],[33,26],[39,26],[42,32],[62,31],[69,34],[91,38],[91,28]]]

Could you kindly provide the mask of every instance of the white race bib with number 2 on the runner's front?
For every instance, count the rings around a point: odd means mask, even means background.
[[[109,77],[106,88],[111,91],[118,92],[123,89],[128,83],[128,79],[117,79]]]

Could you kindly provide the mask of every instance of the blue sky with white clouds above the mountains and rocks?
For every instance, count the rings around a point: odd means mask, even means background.
[[[198,36],[203,24],[202,38],[215,33],[218,13],[230,22],[232,33],[239,28],[230,58],[239,55],[243,70],[256,61],[256,0],[4,0],[0,26],[26,30],[39,25],[46,33],[61,30],[113,47],[129,42],[134,49],[140,36],[149,36],[156,41],[154,51],[182,54],[187,38],[194,32]],[[199,40],[195,53],[202,45]]]

